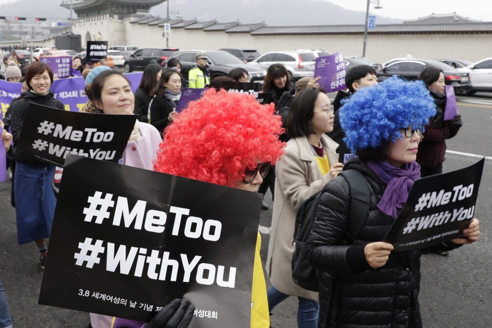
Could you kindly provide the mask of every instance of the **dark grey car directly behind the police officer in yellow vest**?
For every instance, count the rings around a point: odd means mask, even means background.
[[[196,66],[194,57],[199,52],[205,52],[208,56],[210,79],[216,76],[229,75],[229,72],[236,68],[247,70],[251,75],[252,82],[262,82],[265,78],[265,70],[245,64],[242,60],[226,51],[184,50],[173,53],[169,58],[177,58],[181,62],[181,74],[187,79],[188,72]]]

